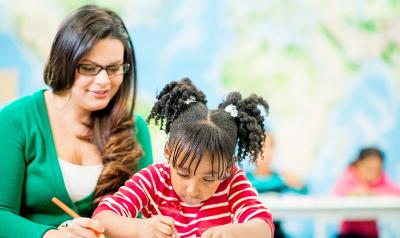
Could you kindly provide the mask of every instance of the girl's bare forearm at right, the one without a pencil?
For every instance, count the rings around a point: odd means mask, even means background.
[[[234,238],[234,237],[251,237],[251,238],[271,238],[272,230],[262,219],[252,219],[240,224],[227,224],[215,226],[206,230],[201,238]]]

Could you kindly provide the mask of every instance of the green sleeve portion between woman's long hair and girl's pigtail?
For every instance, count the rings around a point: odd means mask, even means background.
[[[136,115],[135,116],[136,123],[136,139],[139,144],[142,146],[142,150],[144,152],[144,156],[139,161],[138,169],[143,169],[153,163],[153,150],[151,147],[151,139],[149,128],[147,127],[144,119]]]

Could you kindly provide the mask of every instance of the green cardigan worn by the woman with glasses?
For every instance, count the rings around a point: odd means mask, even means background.
[[[145,152],[139,168],[151,164],[150,134],[136,116],[136,138]],[[0,237],[42,237],[69,215],[53,196],[81,216],[90,216],[93,194],[72,202],[58,164],[44,90],[0,109]]]

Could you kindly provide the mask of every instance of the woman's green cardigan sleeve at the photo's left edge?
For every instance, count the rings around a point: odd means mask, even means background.
[[[26,173],[25,135],[16,115],[13,108],[0,109],[0,237],[42,237],[51,226],[20,216]]]

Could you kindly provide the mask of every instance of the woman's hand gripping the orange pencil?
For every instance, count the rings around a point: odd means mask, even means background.
[[[104,237],[104,235],[96,236],[94,230],[101,233],[104,232],[104,228],[99,221],[90,218],[80,217],[63,222],[57,228],[57,231],[51,230],[46,232],[44,238],[51,238],[51,237],[103,238]]]

